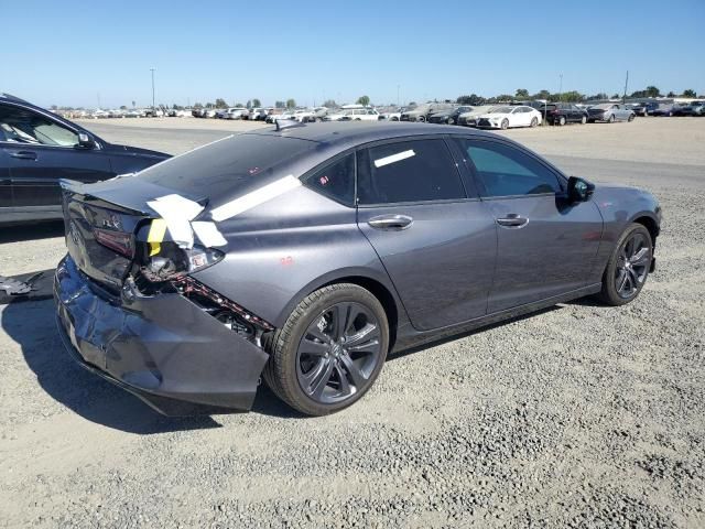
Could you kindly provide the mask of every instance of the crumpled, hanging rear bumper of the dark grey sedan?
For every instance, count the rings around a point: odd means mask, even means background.
[[[178,293],[111,299],[67,256],[54,278],[64,345],[87,369],[166,415],[251,409],[268,355]]]

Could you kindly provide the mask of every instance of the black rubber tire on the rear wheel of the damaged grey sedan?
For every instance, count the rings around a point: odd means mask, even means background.
[[[351,395],[343,400],[324,403],[308,395],[300,384],[300,377],[302,376],[300,346],[314,322],[324,321],[325,314],[332,307],[343,304],[360,305],[373,316],[377,323],[376,328],[379,330],[379,352],[373,358],[372,366],[368,369],[369,375],[364,384],[360,384],[359,388],[354,385],[355,391]],[[325,346],[326,344],[321,343],[319,345]],[[389,325],[387,314],[379,300],[357,284],[330,284],[313,292],[299,303],[290,314],[286,323],[274,334],[269,347],[270,358],[264,367],[263,377],[272,391],[295,410],[307,415],[326,415],[354,404],[367,392],[375,384],[384,365],[388,348]],[[327,353],[325,358],[328,359]],[[329,360],[321,359],[321,361],[338,361],[336,355],[336,359],[330,356]],[[343,363],[343,355],[340,355],[340,363]],[[351,356],[347,358],[349,360]],[[340,374],[343,371],[338,370],[337,373]],[[351,382],[352,378],[349,381]],[[335,384],[335,381],[330,379],[328,384]],[[324,386],[324,389],[329,387],[327,385]]]

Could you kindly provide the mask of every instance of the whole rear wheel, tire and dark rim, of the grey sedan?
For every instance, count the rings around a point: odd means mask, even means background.
[[[292,408],[325,415],[365,395],[388,346],[377,298],[356,284],[332,284],[304,299],[273,337],[264,380]]]

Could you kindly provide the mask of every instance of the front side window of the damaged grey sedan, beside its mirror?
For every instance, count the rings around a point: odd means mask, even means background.
[[[460,149],[475,165],[485,197],[556,193],[556,175],[532,156],[511,145],[458,138]]]

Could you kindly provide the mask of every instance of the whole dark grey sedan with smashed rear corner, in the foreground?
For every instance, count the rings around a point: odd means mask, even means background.
[[[566,176],[490,133],[415,123],[248,132],[135,176],[64,183],[58,330],[167,414],[357,401],[390,352],[654,268],[649,193]],[[420,375],[421,376],[421,375]]]

